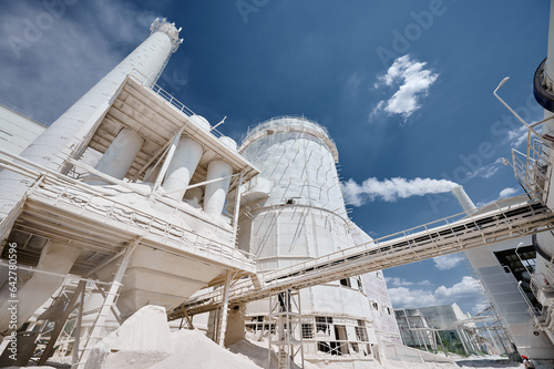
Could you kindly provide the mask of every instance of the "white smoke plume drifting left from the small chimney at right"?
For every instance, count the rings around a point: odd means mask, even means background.
[[[379,181],[371,177],[363,181],[361,185],[350,178],[341,184],[341,188],[348,203],[353,206],[361,206],[376,199],[396,202],[398,198],[450,192],[455,185],[454,182],[447,180],[394,177]]]

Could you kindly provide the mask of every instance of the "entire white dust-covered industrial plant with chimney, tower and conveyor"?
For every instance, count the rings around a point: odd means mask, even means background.
[[[381,238],[350,219],[322,124],[268,116],[237,143],[157,84],[183,42],[166,19],[48,127],[0,106],[0,367],[122,368],[134,351],[114,337],[144,309],[220,347],[255,341],[266,368],[452,363],[408,347],[444,349],[439,330],[468,353],[554,359],[552,11],[545,119],[517,116],[511,164],[526,194],[476,207],[456,186],[462,213]],[[383,269],[460,252],[488,317],[394,311]]]

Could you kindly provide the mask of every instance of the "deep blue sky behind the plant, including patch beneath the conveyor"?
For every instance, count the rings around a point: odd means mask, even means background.
[[[500,158],[524,132],[492,91],[510,75],[501,95],[541,119],[548,1],[2,1],[0,99],[52,122],[158,16],[185,39],[158,84],[237,141],[277,115],[325,125],[373,237],[461,212],[454,182],[475,204],[522,193]],[[394,307],[479,304],[456,256],[384,274]]]

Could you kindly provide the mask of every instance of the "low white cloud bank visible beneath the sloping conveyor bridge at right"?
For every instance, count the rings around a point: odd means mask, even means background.
[[[440,286],[434,291],[429,289],[410,289],[407,287],[389,288],[392,306],[396,309],[418,308],[433,305],[451,305],[456,303],[474,305],[473,311],[481,306],[479,280],[464,276],[460,283],[451,287]]]

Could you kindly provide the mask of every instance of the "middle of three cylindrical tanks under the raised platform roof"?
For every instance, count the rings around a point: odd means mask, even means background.
[[[191,137],[178,141],[162,185],[168,196],[183,198],[203,152],[202,145]]]

